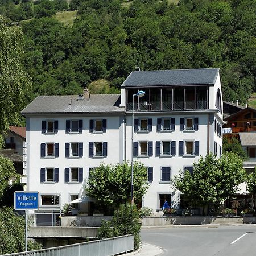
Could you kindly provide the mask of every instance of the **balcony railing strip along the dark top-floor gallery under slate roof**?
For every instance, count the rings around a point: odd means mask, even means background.
[[[208,109],[207,100],[200,101],[141,101],[134,102],[134,111],[180,111]],[[133,110],[133,102],[128,102],[127,111]]]

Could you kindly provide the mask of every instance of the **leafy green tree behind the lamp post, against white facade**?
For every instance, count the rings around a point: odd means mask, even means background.
[[[134,163],[134,200],[142,199],[148,188],[147,168],[142,163]],[[89,197],[106,208],[115,208],[131,199],[131,166],[124,162],[114,166],[101,164],[90,172],[86,184]]]

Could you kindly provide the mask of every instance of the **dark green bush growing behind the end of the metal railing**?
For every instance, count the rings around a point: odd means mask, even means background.
[[[134,250],[141,245],[141,223],[139,222],[139,212],[135,205],[129,203],[121,204],[115,210],[112,221],[102,221],[98,231],[98,238],[110,238],[134,234]]]

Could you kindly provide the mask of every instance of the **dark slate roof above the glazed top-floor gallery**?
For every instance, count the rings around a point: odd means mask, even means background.
[[[218,68],[133,71],[121,87],[166,85],[213,85]]]

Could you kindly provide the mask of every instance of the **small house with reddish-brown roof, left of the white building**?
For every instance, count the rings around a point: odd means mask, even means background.
[[[14,162],[18,174],[23,174],[23,143],[26,141],[26,127],[10,126],[5,138],[5,148],[0,154]]]

